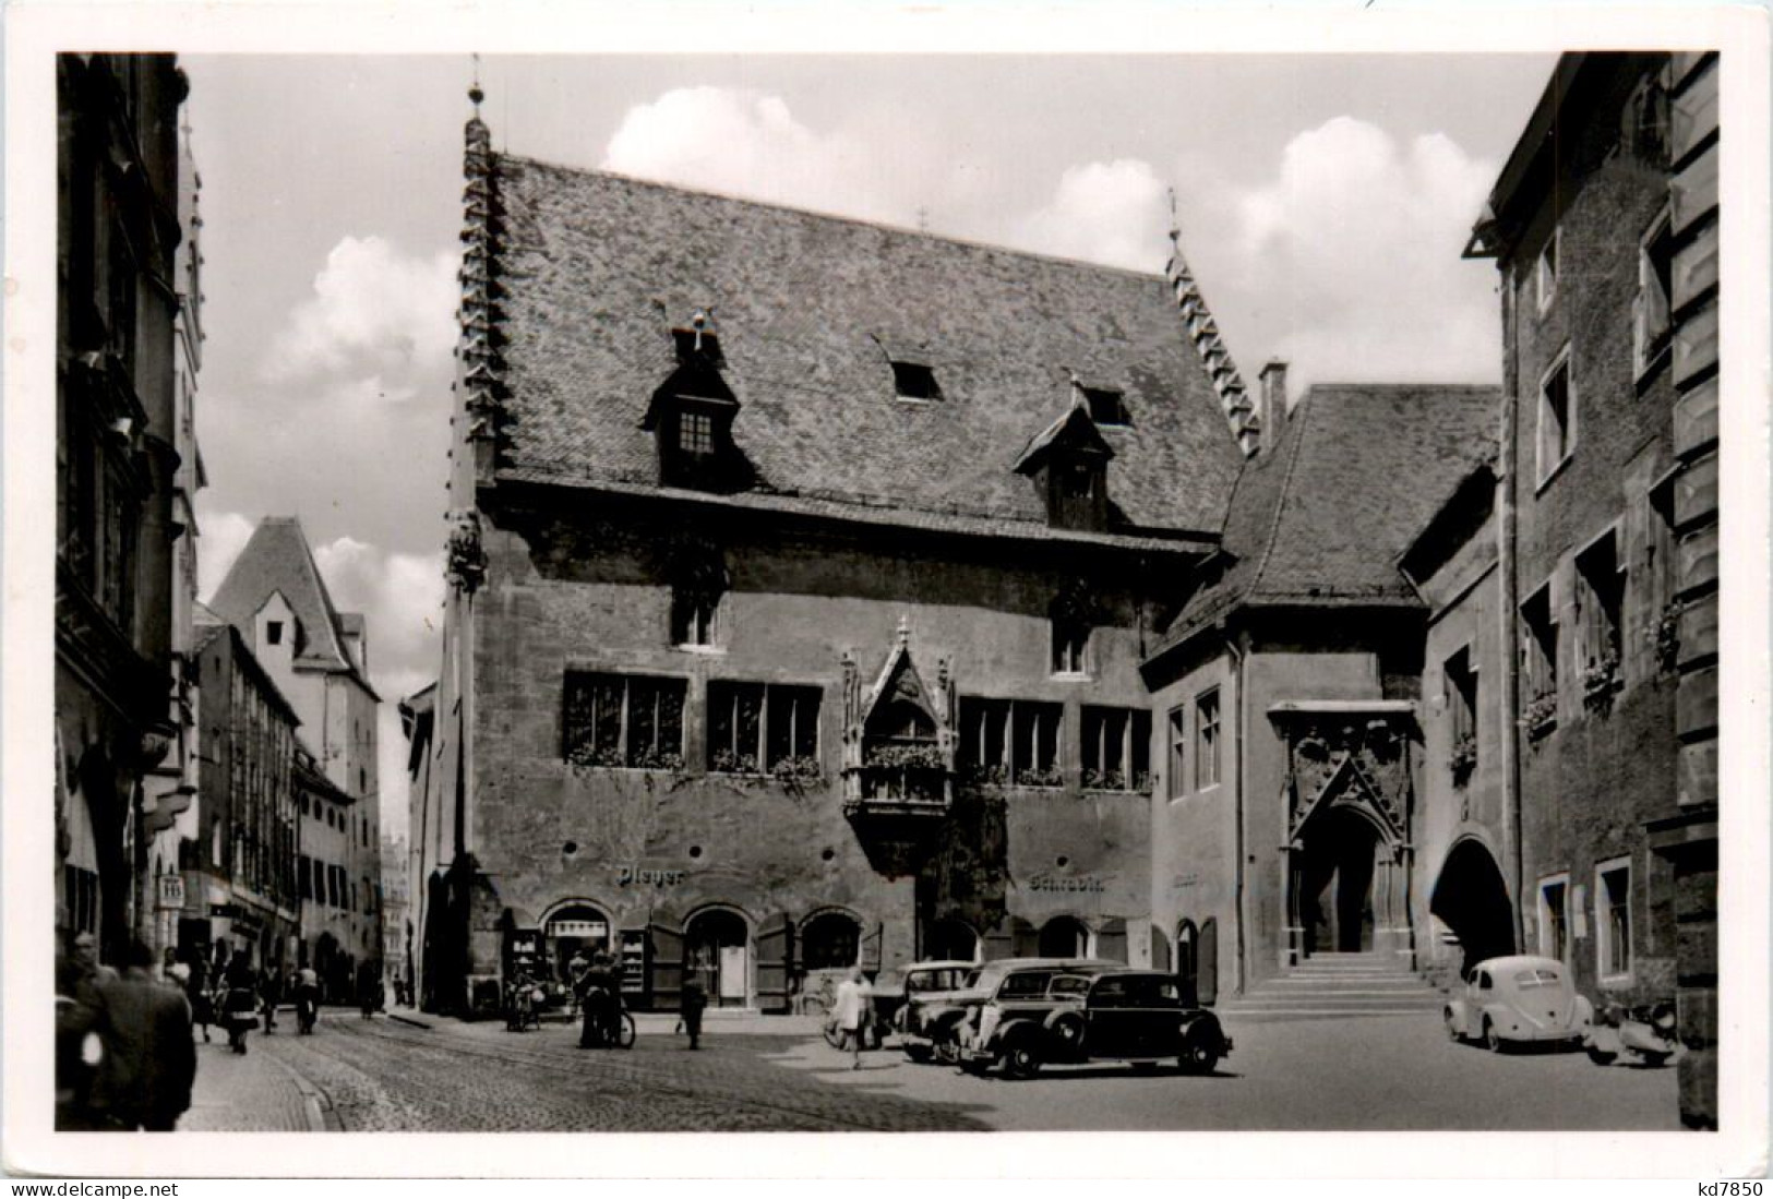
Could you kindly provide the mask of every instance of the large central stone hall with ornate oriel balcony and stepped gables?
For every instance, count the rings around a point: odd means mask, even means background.
[[[1248,422],[1190,287],[491,154],[477,119],[466,215],[443,670],[408,704],[426,1000],[587,944],[652,1007],[686,972],[775,1011],[855,963],[1149,961],[1140,663]]]

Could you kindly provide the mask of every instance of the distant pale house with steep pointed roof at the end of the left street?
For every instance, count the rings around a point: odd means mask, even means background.
[[[301,720],[301,748],[314,763],[307,773],[317,772],[323,780],[301,782],[296,796],[301,853],[314,874],[310,897],[301,905],[296,963],[324,958],[324,965],[344,960],[379,965],[376,711],[381,699],[369,685],[363,619],[333,607],[307,536],[291,516],[259,521],[209,607],[239,630],[289,699]]]

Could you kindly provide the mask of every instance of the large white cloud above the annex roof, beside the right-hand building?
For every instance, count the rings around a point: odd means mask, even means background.
[[[1278,355],[1296,387],[1493,380],[1495,271],[1459,247],[1495,176],[1443,135],[1335,117],[1266,183],[1197,186],[1183,248],[1245,372]]]

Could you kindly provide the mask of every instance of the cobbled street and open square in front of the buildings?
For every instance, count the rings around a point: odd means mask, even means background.
[[[255,1034],[246,1059],[204,1046],[200,1070],[275,1059],[321,1096],[328,1128],[346,1132],[1679,1128],[1674,1070],[1496,1057],[1449,1045],[1433,1015],[1229,1031],[1238,1048],[1206,1078],[1092,1066],[1009,1082],[915,1066],[892,1048],[851,1071],[793,1018],[709,1022],[697,1054],[668,1020],[642,1018],[622,1054],[582,1052],[566,1025],[519,1036],[498,1023],[417,1029],[328,1013],[312,1038]]]

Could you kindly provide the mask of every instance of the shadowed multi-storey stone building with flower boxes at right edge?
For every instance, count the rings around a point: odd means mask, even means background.
[[[1500,665],[1519,921],[1590,995],[1677,993],[1714,1125],[1716,57],[1566,55],[1470,254],[1502,277]]]

